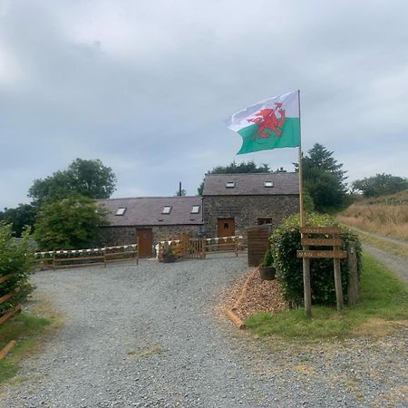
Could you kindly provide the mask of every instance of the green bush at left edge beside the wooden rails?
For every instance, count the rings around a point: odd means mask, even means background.
[[[12,237],[12,225],[0,223],[0,277],[12,274],[11,279],[0,284],[0,296],[15,292],[15,296],[0,305],[0,316],[6,310],[22,302],[34,287],[28,283],[34,267],[34,253],[28,245],[29,230],[25,230],[22,239]]]

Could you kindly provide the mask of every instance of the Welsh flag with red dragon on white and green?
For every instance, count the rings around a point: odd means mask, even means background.
[[[299,92],[274,96],[234,113],[228,129],[242,137],[237,154],[300,146]]]

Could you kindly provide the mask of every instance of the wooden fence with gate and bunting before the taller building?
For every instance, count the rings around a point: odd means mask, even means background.
[[[192,238],[189,234],[160,240],[160,248],[170,246],[176,257],[205,259],[209,253],[238,252],[247,248],[247,238],[242,236],[223,238]]]

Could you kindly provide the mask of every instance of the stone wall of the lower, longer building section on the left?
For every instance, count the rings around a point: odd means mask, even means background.
[[[170,238],[177,235],[189,234],[196,237],[203,226],[199,225],[163,225],[163,226],[143,226],[140,228],[152,228],[153,245],[160,239]],[[112,247],[116,245],[127,245],[136,242],[137,227],[102,227],[100,230],[98,241],[95,243],[97,247]]]

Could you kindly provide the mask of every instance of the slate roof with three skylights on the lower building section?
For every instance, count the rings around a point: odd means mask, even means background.
[[[201,197],[142,197],[136,199],[97,199],[108,209],[111,226],[201,225]],[[171,206],[170,214],[162,214],[164,206]],[[199,206],[198,214],[191,214],[192,206]],[[122,216],[115,215],[126,208]]]

